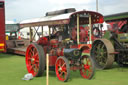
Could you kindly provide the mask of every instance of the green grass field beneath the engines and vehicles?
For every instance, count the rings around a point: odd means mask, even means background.
[[[46,73],[43,77],[24,81],[27,73],[25,57],[0,54],[0,85],[46,85]],[[60,82],[55,72],[50,72],[49,85],[128,85],[128,68],[119,68],[116,64],[109,70],[97,70],[92,80],[83,79],[79,71],[71,72],[68,82]]]

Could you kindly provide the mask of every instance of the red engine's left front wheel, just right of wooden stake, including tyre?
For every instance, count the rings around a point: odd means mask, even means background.
[[[66,82],[70,75],[69,61],[65,57],[58,57],[55,64],[56,76],[60,81]]]

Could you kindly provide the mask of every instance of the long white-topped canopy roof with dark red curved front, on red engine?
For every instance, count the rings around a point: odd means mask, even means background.
[[[60,15],[23,20],[20,22],[20,27],[23,28],[33,26],[69,24],[72,18],[74,18],[74,20],[76,21],[77,14],[79,14],[80,16],[80,24],[88,24],[89,15],[91,15],[92,17],[92,24],[103,23],[103,16],[100,13],[92,11],[78,11]]]

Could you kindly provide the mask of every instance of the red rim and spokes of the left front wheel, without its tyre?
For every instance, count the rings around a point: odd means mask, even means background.
[[[56,75],[60,81],[65,81],[67,77],[66,62],[60,58],[56,62]]]

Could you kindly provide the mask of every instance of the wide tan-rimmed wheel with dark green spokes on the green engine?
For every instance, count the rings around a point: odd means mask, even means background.
[[[114,62],[114,47],[107,39],[95,40],[92,49],[91,57],[95,66],[99,69],[110,68]]]

